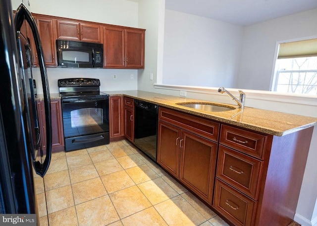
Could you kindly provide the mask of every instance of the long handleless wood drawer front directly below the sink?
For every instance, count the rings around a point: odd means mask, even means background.
[[[197,135],[218,141],[219,123],[211,120],[164,107],[159,107],[159,119]]]

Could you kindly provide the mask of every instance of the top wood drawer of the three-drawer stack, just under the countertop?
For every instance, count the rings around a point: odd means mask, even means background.
[[[263,159],[267,136],[221,125],[220,143]]]

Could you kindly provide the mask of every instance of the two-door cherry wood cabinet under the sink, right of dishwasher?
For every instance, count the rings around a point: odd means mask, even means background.
[[[188,123],[184,121],[188,120]],[[180,119],[180,124],[187,125],[187,130],[181,125],[174,126],[170,121]],[[195,134],[197,128],[205,125],[196,124],[190,129],[191,122],[204,119],[184,115],[184,113],[159,108],[158,158],[157,162],[176,179],[190,188],[206,202],[211,204],[213,194],[213,181],[215,177],[215,164],[217,143]],[[219,125],[213,123],[211,128]],[[212,131],[209,130],[209,131]],[[217,129],[216,129],[217,131]]]

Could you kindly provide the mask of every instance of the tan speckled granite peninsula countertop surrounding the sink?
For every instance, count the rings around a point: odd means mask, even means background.
[[[191,99],[173,95],[165,95],[141,90],[103,91],[111,95],[125,95],[131,98],[148,101],[167,108],[202,116],[214,121],[239,126],[274,136],[284,136],[317,125],[317,118],[294,115],[276,111],[245,107],[239,109],[237,105],[222,104],[211,101]],[[214,103],[215,105],[232,106],[235,109],[222,112],[207,112],[177,105],[180,102]]]

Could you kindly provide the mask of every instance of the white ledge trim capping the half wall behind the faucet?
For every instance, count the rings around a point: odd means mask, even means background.
[[[188,92],[205,93],[217,95],[218,88],[215,87],[195,87],[195,86],[180,86],[180,85],[168,85],[168,84],[154,84],[155,89],[163,90],[184,90]],[[234,95],[239,95],[238,89],[227,89]],[[286,103],[296,103],[303,105],[317,106],[317,96],[304,95],[304,94],[292,94],[283,92],[273,92],[264,90],[243,90],[246,93],[247,98],[261,99],[261,100],[273,100]]]

